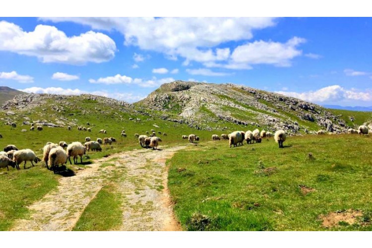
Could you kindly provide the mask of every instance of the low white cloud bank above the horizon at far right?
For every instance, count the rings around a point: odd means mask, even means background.
[[[359,91],[357,89],[345,89],[340,85],[332,85],[308,92],[288,92],[277,91],[276,93],[299,98],[310,102],[338,102],[344,100],[372,101],[372,93],[369,91]]]

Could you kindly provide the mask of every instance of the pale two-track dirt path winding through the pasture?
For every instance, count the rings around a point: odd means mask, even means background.
[[[116,230],[181,230],[169,198],[165,161],[184,148],[139,149],[99,159],[75,176],[61,178],[57,190],[29,206],[30,218],[15,221],[11,230],[72,230],[88,203],[115,173],[120,173],[118,192],[124,199],[123,225]],[[115,166],[100,167],[108,163]]]

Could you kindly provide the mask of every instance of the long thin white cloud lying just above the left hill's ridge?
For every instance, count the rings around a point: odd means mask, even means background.
[[[63,89],[61,87],[31,87],[26,89],[19,89],[20,91],[27,93],[46,93],[46,94],[59,94],[59,95],[80,95],[80,94],[93,94],[98,96],[110,97],[121,101],[126,101],[129,103],[137,102],[142,100],[146,96],[144,95],[135,95],[133,93],[110,93],[107,91],[85,91],[80,89]]]

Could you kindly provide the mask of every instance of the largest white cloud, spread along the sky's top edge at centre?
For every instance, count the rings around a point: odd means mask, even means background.
[[[86,18],[43,17],[55,22],[73,21],[94,29],[116,29],[124,35],[124,44],[142,50],[160,52],[166,58],[187,61],[224,61],[229,48],[214,47],[231,41],[248,40],[252,31],[274,26],[268,17],[165,17],[165,18]]]

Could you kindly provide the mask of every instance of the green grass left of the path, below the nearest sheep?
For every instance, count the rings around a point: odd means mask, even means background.
[[[0,175],[0,231],[9,230],[16,219],[27,218],[27,206],[55,190],[59,178],[39,166]]]

